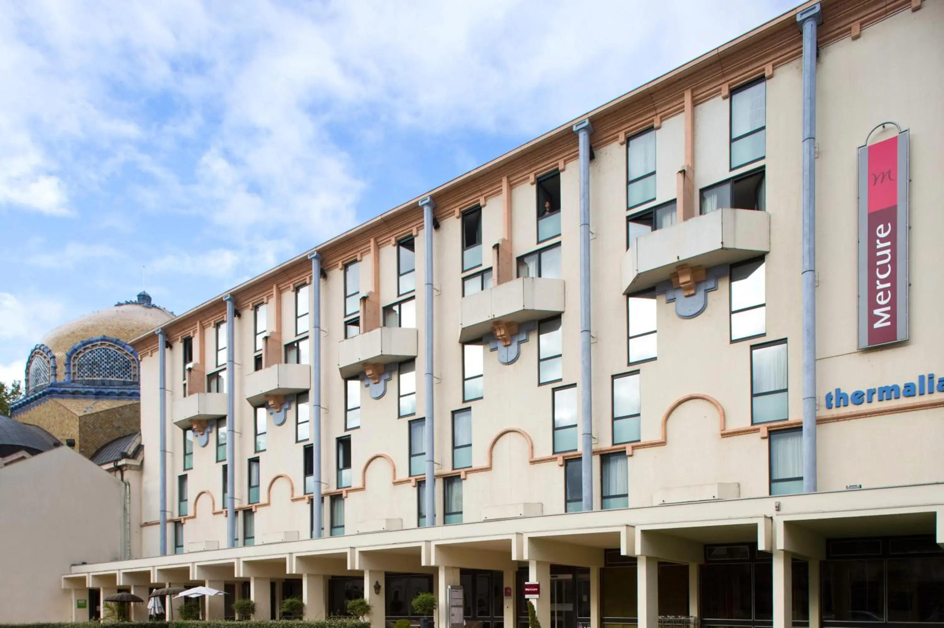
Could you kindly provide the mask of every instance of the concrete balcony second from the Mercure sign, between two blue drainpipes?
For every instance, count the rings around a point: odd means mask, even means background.
[[[564,280],[522,277],[463,297],[459,342],[493,331],[493,324],[520,324],[564,312]]]

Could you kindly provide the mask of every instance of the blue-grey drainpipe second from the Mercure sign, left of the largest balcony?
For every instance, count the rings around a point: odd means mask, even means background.
[[[593,383],[590,367],[590,133],[587,118],[574,125],[581,168],[581,477],[583,512],[593,510]]]

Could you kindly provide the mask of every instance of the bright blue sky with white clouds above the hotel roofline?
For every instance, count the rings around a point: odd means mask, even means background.
[[[184,312],[707,52],[784,0],[8,3],[0,381]]]

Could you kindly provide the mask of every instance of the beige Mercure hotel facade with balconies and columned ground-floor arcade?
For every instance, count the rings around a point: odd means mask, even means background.
[[[526,623],[526,582],[546,628],[944,622],[942,32],[936,0],[803,5],[133,340],[140,554],[62,586],[364,597],[378,627],[422,591],[442,628]]]

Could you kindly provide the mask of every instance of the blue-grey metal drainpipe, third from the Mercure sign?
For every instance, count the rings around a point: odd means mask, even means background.
[[[432,196],[425,196],[420,199],[419,206],[423,208],[423,264],[424,274],[426,275],[426,322],[423,330],[426,349],[423,354],[423,361],[426,363],[425,378],[425,408],[426,420],[424,421],[424,433],[426,436],[426,524],[428,526],[436,525],[436,458],[435,458],[435,420],[433,418],[432,405],[432,211],[436,209],[436,201]]]

